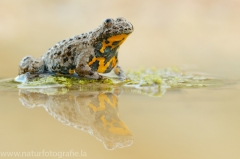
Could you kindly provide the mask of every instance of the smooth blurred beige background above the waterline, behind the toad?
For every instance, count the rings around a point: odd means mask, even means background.
[[[240,77],[238,0],[0,0],[0,78],[17,75],[23,56],[125,17],[135,31],[120,49],[124,69],[190,66]]]

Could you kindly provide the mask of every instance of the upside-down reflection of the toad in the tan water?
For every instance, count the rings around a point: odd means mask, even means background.
[[[118,96],[112,92],[70,91],[47,95],[41,91],[21,89],[19,100],[29,108],[44,107],[60,122],[95,136],[107,149],[122,148],[133,143],[133,134],[119,117]]]

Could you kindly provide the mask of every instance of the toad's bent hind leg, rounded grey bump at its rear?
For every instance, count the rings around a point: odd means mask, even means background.
[[[29,72],[30,74],[39,74],[44,71],[43,60],[35,59],[32,56],[26,56],[19,64],[19,75]]]

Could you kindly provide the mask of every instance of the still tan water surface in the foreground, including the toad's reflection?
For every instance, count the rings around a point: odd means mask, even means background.
[[[94,159],[240,158],[237,82],[168,89],[162,97],[119,88],[62,92],[2,87],[1,152],[52,152],[53,158],[62,153]]]

